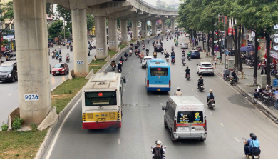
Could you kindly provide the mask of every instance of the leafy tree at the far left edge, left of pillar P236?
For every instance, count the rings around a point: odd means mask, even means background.
[[[6,26],[4,29],[0,31],[0,37],[6,36],[6,34],[10,34],[10,24],[14,19],[14,9],[13,9],[13,1],[9,1],[6,4],[0,4],[0,13],[2,16],[0,17],[0,25],[3,26],[5,24]],[[8,23],[5,22],[5,19],[8,21]],[[0,41],[0,46],[2,45],[2,42]],[[1,61],[0,61],[1,63]]]

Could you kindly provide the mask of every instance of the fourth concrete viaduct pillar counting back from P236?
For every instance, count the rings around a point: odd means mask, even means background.
[[[109,49],[112,51],[118,48],[117,19],[108,20]]]

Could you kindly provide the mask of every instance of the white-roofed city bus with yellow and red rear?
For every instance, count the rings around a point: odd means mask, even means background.
[[[95,74],[82,89],[82,128],[121,128],[122,106],[121,74]]]

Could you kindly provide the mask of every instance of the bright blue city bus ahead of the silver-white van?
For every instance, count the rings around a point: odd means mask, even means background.
[[[170,91],[170,66],[163,59],[147,61],[145,84],[147,91]]]

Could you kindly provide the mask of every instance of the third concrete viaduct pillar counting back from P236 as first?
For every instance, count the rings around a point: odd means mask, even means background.
[[[106,34],[106,17],[95,16],[96,24],[96,58],[105,59],[107,53],[107,34]],[[110,33],[110,31],[109,31]],[[110,37],[109,37],[110,39]]]

